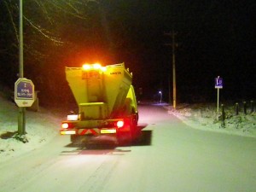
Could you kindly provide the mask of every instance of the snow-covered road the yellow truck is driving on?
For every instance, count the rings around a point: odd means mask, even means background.
[[[195,130],[160,106],[139,113],[141,143],[92,150],[57,136],[4,161],[0,191],[255,191],[255,138]]]

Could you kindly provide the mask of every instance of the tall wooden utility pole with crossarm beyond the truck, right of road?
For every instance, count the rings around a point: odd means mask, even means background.
[[[177,32],[165,33],[165,35],[171,36],[172,44],[166,44],[167,46],[172,46],[172,89],[173,89],[173,108],[176,108],[176,63],[175,63],[175,36]]]

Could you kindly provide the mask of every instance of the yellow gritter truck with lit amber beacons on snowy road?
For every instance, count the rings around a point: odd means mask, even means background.
[[[130,143],[140,136],[132,74],[125,63],[84,64],[66,67],[65,72],[79,113],[67,115],[61,135],[70,135],[72,143],[85,144]]]

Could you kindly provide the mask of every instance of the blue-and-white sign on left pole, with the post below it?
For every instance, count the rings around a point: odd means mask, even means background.
[[[20,135],[26,133],[25,109],[31,107],[35,100],[34,84],[32,80],[20,78],[15,82],[15,102],[19,110],[18,132]]]

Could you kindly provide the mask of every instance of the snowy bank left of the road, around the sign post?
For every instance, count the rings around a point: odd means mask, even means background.
[[[0,94],[0,163],[49,143],[57,134],[61,119],[39,108],[26,110],[26,142],[15,138],[18,131],[18,107]]]

